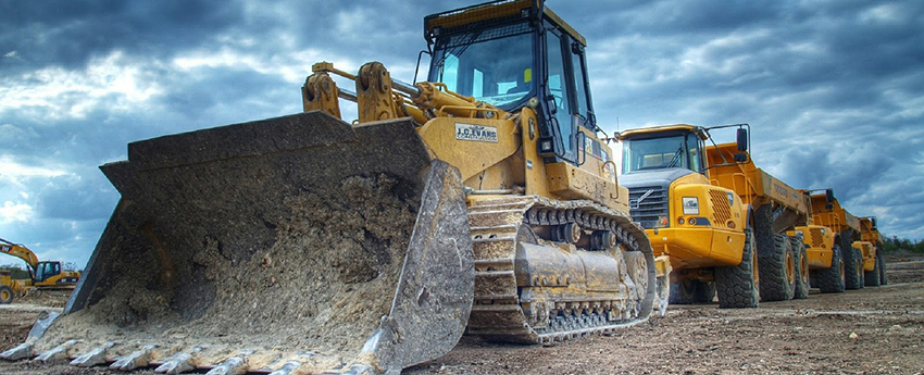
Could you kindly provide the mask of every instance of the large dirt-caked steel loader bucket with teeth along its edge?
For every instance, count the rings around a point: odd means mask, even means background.
[[[123,370],[395,373],[464,332],[460,175],[410,120],[296,114],[134,142],[101,168],[122,200],[33,354],[64,343],[74,364]]]

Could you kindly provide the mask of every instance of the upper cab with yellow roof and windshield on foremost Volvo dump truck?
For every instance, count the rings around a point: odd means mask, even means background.
[[[685,168],[703,173],[704,134],[699,127],[671,125],[630,130],[623,141],[624,175],[644,171]]]

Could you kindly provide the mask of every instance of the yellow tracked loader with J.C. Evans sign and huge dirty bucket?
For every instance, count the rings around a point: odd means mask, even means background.
[[[122,199],[64,315],[0,357],[398,374],[463,333],[551,343],[645,322],[658,267],[598,137],[584,37],[533,0],[429,15],[424,34],[427,82],[319,63],[305,113],[129,143],[102,166]]]

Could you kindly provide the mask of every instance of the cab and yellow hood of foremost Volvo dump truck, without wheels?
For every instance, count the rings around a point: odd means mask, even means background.
[[[620,139],[620,182],[629,190],[633,218],[650,232],[655,252],[671,254],[675,270],[739,264],[747,211],[734,191],[710,184],[702,128],[644,128]]]

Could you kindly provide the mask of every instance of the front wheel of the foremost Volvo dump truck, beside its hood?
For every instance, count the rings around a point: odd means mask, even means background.
[[[760,301],[760,276],[751,228],[745,229],[741,263],[715,267],[715,291],[722,309],[757,308]]]

